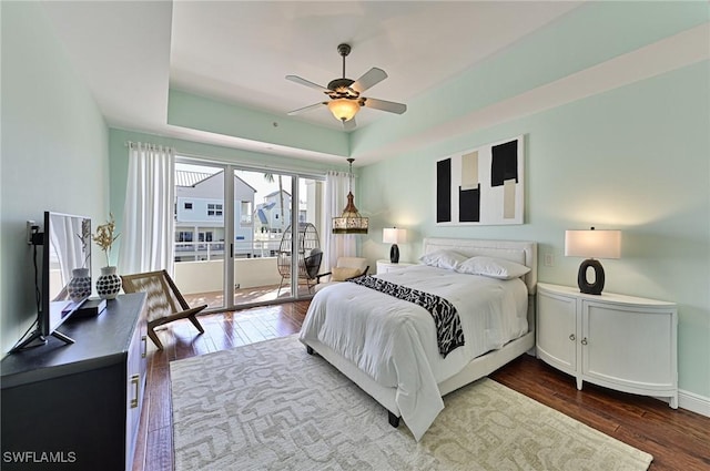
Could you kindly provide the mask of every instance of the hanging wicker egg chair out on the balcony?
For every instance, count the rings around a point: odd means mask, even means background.
[[[281,293],[284,280],[291,278],[291,248],[293,237],[292,226],[288,226],[281,238],[276,257],[278,274],[281,275],[281,283],[278,284],[276,296]],[[303,279],[306,281],[308,290],[311,290],[316,284],[316,276],[318,275],[321,262],[323,260],[318,232],[311,223],[300,223],[295,237],[297,237],[296,249],[298,250],[297,276],[300,280]]]

